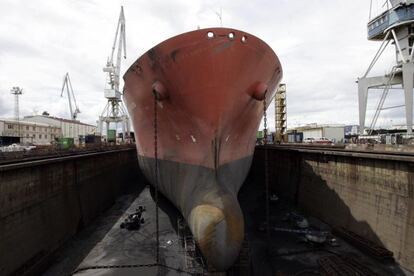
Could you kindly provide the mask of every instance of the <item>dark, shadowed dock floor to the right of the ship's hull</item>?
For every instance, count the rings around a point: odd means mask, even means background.
[[[394,262],[378,261],[367,256],[332,235],[329,237],[337,240],[336,246],[306,241],[304,234],[272,230],[268,239],[263,186],[257,185],[252,179],[247,179],[239,192],[249,240],[251,275],[325,275],[318,260],[330,256],[351,257],[370,269],[373,275],[413,275]],[[270,229],[275,227],[299,229],[294,222],[286,219],[286,215],[292,211],[303,215],[311,229],[331,231],[330,227],[322,221],[306,216],[306,210],[300,210],[291,202],[281,198],[270,202]]]

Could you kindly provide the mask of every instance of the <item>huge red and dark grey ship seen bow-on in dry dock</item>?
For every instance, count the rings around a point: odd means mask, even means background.
[[[230,28],[167,39],[124,75],[140,168],[182,213],[216,271],[239,255],[244,220],[237,194],[282,75],[269,45]]]

